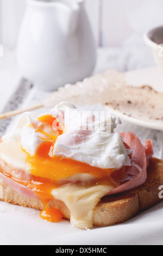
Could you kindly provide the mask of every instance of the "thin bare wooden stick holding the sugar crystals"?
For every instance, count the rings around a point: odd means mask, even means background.
[[[14,110],[14,111],[3,113],[3,114],[0,114],[0,120],[10,118],[10,117],[14,117],[15,115],[22,114],[24,112],[32,111],[34,109],[42,108],[42,107],[44,107],[44,104],[40,103],[40,104],[34,105],[32,107],[20,108],[20,109]]]

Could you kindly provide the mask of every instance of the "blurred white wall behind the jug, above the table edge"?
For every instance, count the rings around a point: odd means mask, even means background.
[[[137,38],[163,23],[162,0],[86,0],[98,46],[119,47],[128,38]],[[0,43],[15,48],[26,0],[0,0]],[[101,37],[100,37],[101,35]]]

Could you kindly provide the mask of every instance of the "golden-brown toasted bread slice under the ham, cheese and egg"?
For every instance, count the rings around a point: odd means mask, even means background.
[[[159,203],[162,200],[159,198],[160,185],[163,185],[163,161],[152,157],[149,160],[145,184],[134,190],[103,197],[93,210],[93,225],[103,227],[122,223]],[[38,210],[43,209],[39,199],[21,196],[1,179],[0,200]],[[48,207],[61,210],[64,218],[70,220],[70,211],[63,202],[51,200]]]

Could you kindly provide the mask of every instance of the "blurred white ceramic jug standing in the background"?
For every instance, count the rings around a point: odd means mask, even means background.
[[[22,75],[55,90],[82,81],[96,64],[96,44],[84,0],[27,0],[17,44]]]

